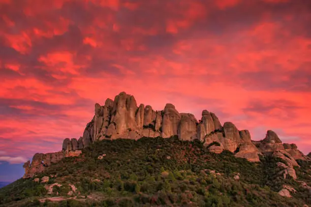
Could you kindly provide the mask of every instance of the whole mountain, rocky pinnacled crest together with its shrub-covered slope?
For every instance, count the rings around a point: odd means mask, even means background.
[[[307,206],[310,165],[272,130],[252,141],[207,110],[196,120],[121,92],[96,103],[79,139],[27,161],[0,206]]]

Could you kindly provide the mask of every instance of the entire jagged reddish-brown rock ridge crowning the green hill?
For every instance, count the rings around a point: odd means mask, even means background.
[[[193,114],[179,113],[172,103],[167,103],[163,111],[154,111],[149,105],[137,106],[133,95],[121,92],[114,100],[106,99],[104,106],[96,103],[94,117],[87,123],[80,139],[67,138],[61,152],[36,154],[31,164],[26,162],[24,177],[32,177],[63,157],[79,155],[81,149],[98,140],[173,135],[184,141],[198,139],[211,152],[229,150],[236,157],[252,162],[260,161],[259,154],[280,157],[291,166],[298,165],[296,159],[310,159],[296,145],[283,144],[272,130],[267,131],[265,139],[255,142],[248,130],[239,130],[231,122],[222,125],[219,118],[207,110],[202,111],[201,120],[197,121]]]

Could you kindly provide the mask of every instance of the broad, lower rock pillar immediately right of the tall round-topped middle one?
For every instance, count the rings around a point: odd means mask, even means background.
[[[180,140],[194,140],[197,138],[198,121],[193,114],[181,113],[178,125],[178,137]]]

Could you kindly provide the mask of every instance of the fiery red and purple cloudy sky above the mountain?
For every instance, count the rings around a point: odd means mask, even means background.
[[[0,181],[121,91],[308,153],[310,22],[309,0],[0,0]]]

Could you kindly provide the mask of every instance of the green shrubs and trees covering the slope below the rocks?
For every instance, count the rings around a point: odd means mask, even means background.
[[[215,144],[215,143],[214,143]],[[99,155],[106,154],[103,159]],[[290,177],[279,176],[270,156],[251,163],[224,151],[215,154],[198,141],[176,137],[104,140],[83,149],[79,157],[67,157],[38,175],[56,175],[49,184],[74,184],[79,195],[67,195],[68,185],[54,187],[20,179],[0,189],[0,206],[303,206],[311,195]],[[300,161],[300,180],[311,184],[310,163]],[[220,175],[214,175],[215,170]],[[240,174],[239,180],[234,176]],[[98,181],[96,180],[98,179]],[[284,184],[297,192],[279,196]],[[56,195],[58,194],[58,195]],[[39,199],[65,196],[60,202]],[[77,196],[77,197],[74,197]]]

